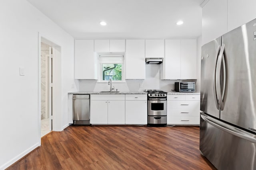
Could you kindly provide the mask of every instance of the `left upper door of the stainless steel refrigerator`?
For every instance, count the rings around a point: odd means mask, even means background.
[[[217,118],[220,118],[220,111],[216,97],[215,68],[220,50],[220,40],[219,37],[202,46],[201,57],[200,110]]]

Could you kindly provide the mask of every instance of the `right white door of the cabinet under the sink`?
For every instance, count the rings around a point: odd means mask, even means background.
[[[108,101],[108,124],[125,123],[125,101]]]

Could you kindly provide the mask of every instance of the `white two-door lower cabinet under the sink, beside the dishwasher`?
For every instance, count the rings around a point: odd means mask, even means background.
[[[125,124],[125,95],[90,95],[90,123]]]

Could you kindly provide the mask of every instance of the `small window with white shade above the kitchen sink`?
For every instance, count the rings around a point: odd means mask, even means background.
[[[100,82],[108,82],[110,78],[114,82],[122,82],[124,80],[123,63],[123,55],[100,55]]]

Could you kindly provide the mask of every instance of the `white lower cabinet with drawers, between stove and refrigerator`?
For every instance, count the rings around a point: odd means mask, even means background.
[[[199,125],[200,95],[168,94],[167,124]]]

